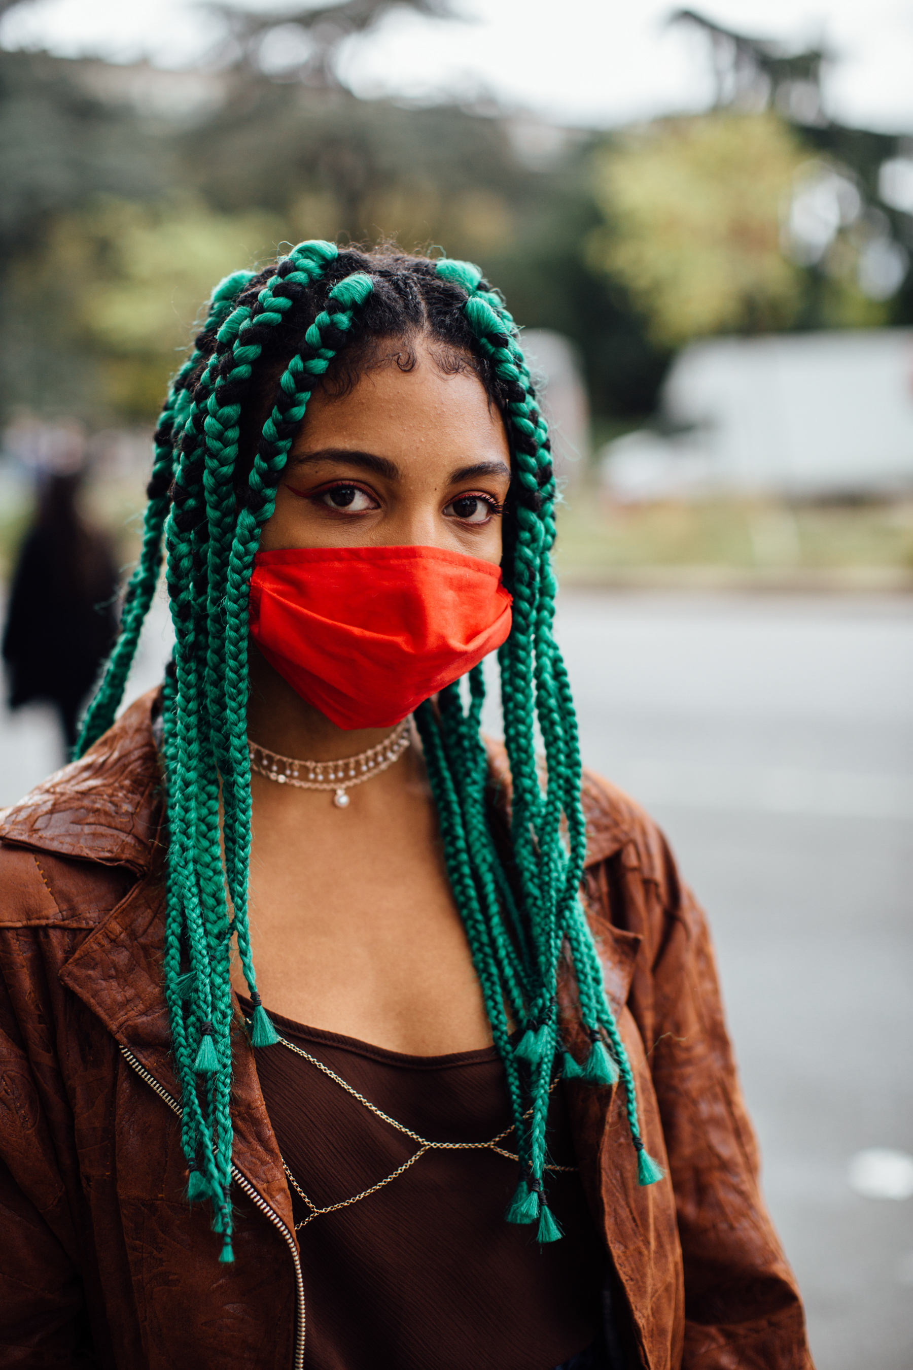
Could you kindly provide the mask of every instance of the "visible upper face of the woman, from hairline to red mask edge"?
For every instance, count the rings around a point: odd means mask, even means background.
[[[292,444],[260,548],[437,547],[501,560],[511,482],[504,422],[472,374],[375,364],[345,396],[318,390]]]

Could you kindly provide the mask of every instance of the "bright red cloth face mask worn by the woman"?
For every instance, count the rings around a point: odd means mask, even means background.
[[[257,552],[250,637],[337,727],[393,727],[511,632],[489,562],[434,547]]]

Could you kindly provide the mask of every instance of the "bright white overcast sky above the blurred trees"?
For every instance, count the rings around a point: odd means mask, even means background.
[[[300,8],[301,0],[263,7]],[[698,110],[709,100],[704,45],[690,30],[667,27],[668,0],[454,0],[454,8],[470,22],[401,11],[350,45],[344,74],[353,89],[491,92],[548,118],[593,125]],[[913,0],[709,0],[695,8],[795,47],[824,41],[838,58],[825,82],[828,112],[913,134]],[[7,47],[116,62],[148,56],[172,67],[205,62],[214,37],[212,19],[193,0],[33,0],[0,23]],[[277,64],[286,55],[279,42]]]

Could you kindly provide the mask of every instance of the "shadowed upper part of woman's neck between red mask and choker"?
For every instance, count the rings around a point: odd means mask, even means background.
[[[252,641],[248,651],[248,736],[260,747],[296,760],[341,760],[376,747],[393,732],[393,727],[337,727],[282,680]]]

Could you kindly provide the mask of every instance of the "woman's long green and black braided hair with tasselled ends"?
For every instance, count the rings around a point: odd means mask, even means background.
[[[580,752],[553,636],[557,490],[519,330],[502,297],[468,262],[308,241],[259,275],[238,271],[216,286],[193,353],[171,384],[155,433],[140,562],[78,747],[82,755],[114,721],[164,541],[175,629],[163,707],[170,832],[164,992],[183,1097],[188,1197],[209,1200],[224,1262],[234,1259],[233,941],[253,1004],[249,1040],[256,1048],[278,1040],[257,993],[248,923],[253,558],[315,388],[342,393],[381,338],[402,341],[408,359],[420,337],[434,342],[439,364],[470,370],[485,385],[504,416],[513,464],[502,562],[513,627],[498,652],[512,777],[509,864],[496,840],[479,736],[482,667],[470,673],[468,688],[457,681],[415,714],[448,874],[513,1110],[522,1174],[506,1219],[535,1222],[541,1243],[561,1236],[545,1191],[546,1115],[557,1073],[594,1086],[620,1080],[639,1182],[663,1178],[641,1140],[631,1066],[579,897],[586,848]],[[537,722],[545,764],[535,751]],[[584,1063],[561,1037],[563,958],[591,1044]]]

